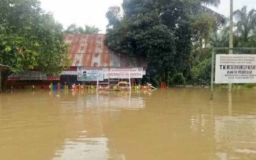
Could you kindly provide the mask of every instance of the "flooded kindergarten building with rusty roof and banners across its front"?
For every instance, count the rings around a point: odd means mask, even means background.
[[[104,44],[104,34],[68,34],[64,42],[70,44],[68,56],[71,66],[63,70],[60,76],[46,76],[40,71],[12,74],[8,77],[7,85],[47,85],[60,82],[68,84],[96,85],[98,75],[101,78],[130,77],[142,78],[146,74],[145,60],[136,56],[113,53]],[[129,76],[127,76],[129,74]],[[133,81],[132,81],[133,82]]]

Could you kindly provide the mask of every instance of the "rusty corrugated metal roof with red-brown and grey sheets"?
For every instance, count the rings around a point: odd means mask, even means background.
[[[147,67],[145,60],[124,54],[114,54],[104,45],[104,34],[68,34],[64,42],[70,44],[71,66],[83,67]]]

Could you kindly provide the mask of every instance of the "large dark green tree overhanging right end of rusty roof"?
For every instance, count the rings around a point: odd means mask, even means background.
[[[218,4],[219,0],[124,0],[123,16],[119,7],[110,7],[106,14],[105,42],[115,53],[145,58],[167,84],[176,73],[191,80],[193,45],[209,43],[223,20],[205,5]]]

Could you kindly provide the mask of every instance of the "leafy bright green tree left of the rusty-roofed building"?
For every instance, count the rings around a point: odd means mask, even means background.
[[[60,75],[70,63],[62,29],[37,0],[1,0],[0,64],[11,66],[2,73],[3,84],[11,73],[34,68]]]

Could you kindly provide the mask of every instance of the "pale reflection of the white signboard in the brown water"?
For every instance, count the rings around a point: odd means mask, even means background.
[[[214,138],[228,159],[256,159],[256,116],[216,116]]]

